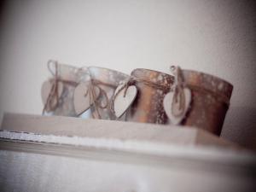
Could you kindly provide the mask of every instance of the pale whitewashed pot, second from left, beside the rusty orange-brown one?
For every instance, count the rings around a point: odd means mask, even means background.
[[[130,76],[103,67],[88,67],[88,70],[93,86],[100,88],[100,96],[91,106],[90,113],[96,119],[116,119],[113,112],[110,110],[111,98],[119,83],[126,81]]]

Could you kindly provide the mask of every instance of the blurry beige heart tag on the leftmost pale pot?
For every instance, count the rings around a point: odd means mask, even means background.
[[[49,99],[49,94],[50,94],[50,91],[52,90],[54,84],[55,84],[54,81],[48,80],[48,81],[45,81],[44,84],[42,85],[41,96],[42,96],[44,105],[46,104],[47,100]],[[58,90],[57,90],[58,98],[55,95],[52,96],[50,106],[46,106],[46,108],[45,108],[46,111],[53,110],[53,108],[55,108],[58,103],[58,99],[61,97],[61,94],[64,89],[64,85],[62,84],[61,81],[58,81],[57,84],[58,84],[57,85],[58,86]]]

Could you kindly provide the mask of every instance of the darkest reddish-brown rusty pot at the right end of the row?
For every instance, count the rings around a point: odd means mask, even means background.
[[[207,73],[183,70],[183,81],[192,102],[182,125],[195,126],[220,135],[229,108],[233,85]]]

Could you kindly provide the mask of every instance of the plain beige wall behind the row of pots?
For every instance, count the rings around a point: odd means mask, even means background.
[[[256,148],[253,1],[6,1],[0,18],[0,117],[37,113],[46,62],[131,73],[171,64],[234,84],[222,137]]]

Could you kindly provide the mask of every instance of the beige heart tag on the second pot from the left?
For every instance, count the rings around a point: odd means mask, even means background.
[[[74,109],[77,115],[84,113],[88,108],[90,108],[90,104],[93,101],[93,97],[90,98],[90,81],[79,84],[73,93],[73,104]],[[92,86],[91,89],[94,89],[95,100],[100,96],[100,89],[96,86]],[[87,95],[86,95],[87,93]],[[91,101],[90,101],[91,99]]]

